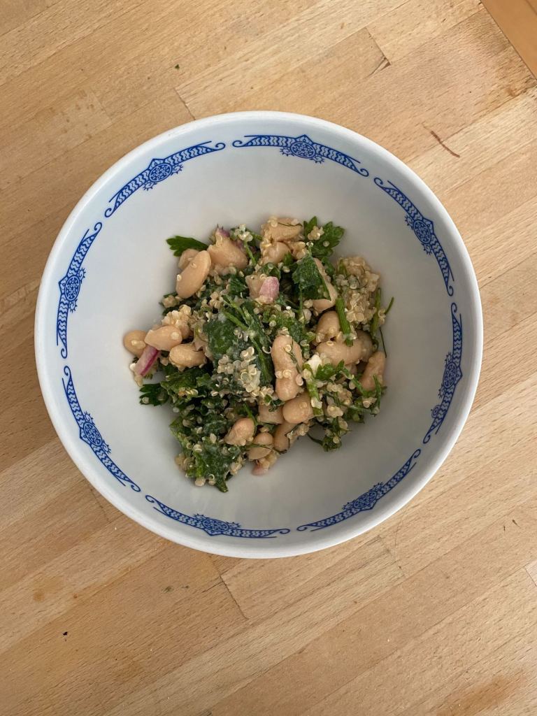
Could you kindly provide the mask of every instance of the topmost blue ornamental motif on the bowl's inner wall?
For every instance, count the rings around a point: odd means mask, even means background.
[[[233,147],[279,147],[280,152],[287,157],[310,159],[317,164],[321,164],[325,159],[329,159],[332,160],[332,162],[351,169],[363,177],[369,176],[367,169],[359,166],[359,164],[361,164],[359,160],[353,159],[349,157],[349,155],[339,152],[337,149],[332,149],[332,147],[326,147],[324,144],[314,142],[308,135],[300,135],[299,137],[286,137],[285,135],[245,135],[244,140],[234,140]]]

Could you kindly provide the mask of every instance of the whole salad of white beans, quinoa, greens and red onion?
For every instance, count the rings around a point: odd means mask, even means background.
[[[217,226],[209,243],[168,239],[175,291],[125,347],[143,405],[170,403],[195,485],[228,490],[247,462],[261,475],[301,436],[336,450],[350,422],[377,415],[385,390],[379,274],[332,261],[344,230],[271,216],[260,233]],[[379,340],[382,349],[379,349]]]

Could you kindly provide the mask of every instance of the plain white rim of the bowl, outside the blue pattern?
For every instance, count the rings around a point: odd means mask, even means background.
[[[157,518],[152,519],[147,513],[137,508],[135,505],[130,503],[128,500],[123,500],[122,495],[119,491],[112,489],[112,484],[108,483],[101,475],[98,474],[97,470],[93,470],[92,463],[86,460],[82,451],[79,449],[79,441],[74,439],[72,430],[66,424],[66,421],[60,417],[57,409],[54,405],[54,393],[56,388],[52,384],[52,377],[47,373],[44,365],[44,360],[41,356],[44,354],[45,349],[45,329],[46,321],[44,318],[44,306],[46,300],[46,294],[51,285],[51,279],[53,278],[54,269],[57,263],[57,257],[60,255],[64,248],[64,244],[69,239],[69,234],[72,230],[74,222],[76,221],[79,213],[92,201],[95,195],[100,191],[103,185],[107,183],[114,175],[119,173],[123,168],[130,164],[131,160],[137,158],[140,154],[147,150],[151,150],[153,147],[160,145],[163,140],[170,138],[180,137],[181,135],[188,134],[191,130],[199,130],[205,127],[214,127],[221,122],[226,121],[241,122],[243,120],[289,120],[295,122],[304,122],[309,128],[328,130],[333,132],[334,135],[339,137],[347,138],[348,140],[358,142],[369,150],[377,153],[381,158],[387,160],[396,169],[400,170],[405,179],[408,180],[416,190],[421,193],[435,208],[435,211],[442,217],[445,223],[445,231],[450,235],[450,241],[453,242],[453,251],[458,253],[458,258],[463,265],[465,272],[465,281],[468,286],[468,300],[470,301],[470,309],[473,310],[475,323],[473,324],[473,339],[475,343],[473,359],[471,360],[468,369],[465,371],[465,378],[467,387],[461,397],[461,405],[458,409],[458,414],[453,421],[453,425],[450,427],[448,433],[444,433],[442,442],[436,443],[439,447],[437,450],[433,450],[430,455],[429,465],[423,470],[423,475],[419,480],[412,485],[411,488],[401,490],[392,500],[392,504],[389,508],[384,508],[381,514],[377,514],[372,511],[368,516],[366,524],[354,523],[354,521],[347,521],[347,524],[341,523],[342,526],[337,531],[328,531],[317,535],[311,541],[304,541],[304,543],[286,545],[284,542],[271,543],[271,546],[263,546],[259,548],[251,544],[251,540],[248,541],[237,541],[237,542],[217,542],[211,541],[208,536],[198,534],[188,534],[186,532],[176,532],[173,527],[168,526],[164,521],[160,523]],[[54,281],[52,281],[54,283]],[[468,330],[468,328],[467,328]],[[67,451],[69,457],[72,459],[74,464],[80,470],[84,478],[102,494],[112,505],[115,506],[121,513],[130,517],[132,520],[140,524],[142,527],[147,528],[151,532],[166,538],[175,543],[187,546],[205,553],[218,554],[222,556],[231,556],[238,558],[276,558],[276,557],[289,557],[298,556],[300,554],[311,553],[325,549],[328,547],[335,546],[359,536],[360,534],[369,531],[369,529],[378,526],[397,511],[403,508],[407,503],[412,500],[415,495],[425,487],[433,475],[440,468],[444,460],[448,457],[448,454],[453,449],[456,440],[458,439],[460,432],[463,430],[465,422],[468,418],[470,408],[472,407],[475,392],[478,387],[478,381],[480,376],[481,362],[483,358],[483,311],[480,301],[480,294],[478,288],[478,281],[475,276],[473,264],[468,253],[468,249],[463,242],[463,238],[450,217],[448,211],[444,205],[437,198],[435,193],[427,186],[427,184],[415,173],[407,164],[397,158],[389,150],[385,149],[381,145],[377,144],[373,140],[370,140],[364,135],[359,134],[347,127],[339,125],[335,122],[329,122],[319,117],[312,117],[311,115],[301,115],[296,112],[276,112],[273,110],[249,110],[245,112],[227,112],[220,115],[211,115],[210,117],[204,117],[199,120],[192,120],[178,127],[173,127],[170,130],[165,130],[160,134],[152,137],[151,139],[142,142],[137,147],[130,150],[127,154],[123,155],[122,158],[117,160],[109,169],[107,169],[102,175],[100,175],[93,183],[89,186],[86,192],[78,200],[74,208],[67,216],[64,221],[62,228],[60,229],[57,238],[54,241],[52,249],[47,258],[42,279],[39,284],[39,294],[37,296],[37,304],[35,311],[34,321],[34,351],[37,365],[37,374],[39,378],[39,386],[43,395],[47,412],[49,414],[54,430],[56,430],[59,440],[62,442],[64,449]],[[447,426],[445,426],[447,427]],[[354,524],[354,526],[353,526]],[[245,543],[247,542],[247,543]],[[248,544],[250,543],[250,544]]]

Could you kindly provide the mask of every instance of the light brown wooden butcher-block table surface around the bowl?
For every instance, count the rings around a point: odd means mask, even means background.
[[[528,62],[531,2],[485,3],[507,32],[519,17]],[[0,713],[535,715],[537,82],[488,11],[1,0],[0,17]],[[64,452],[34,369],[39,279],[79,196],[158,132],[248,108],[341,122],[409,163],[458,224],[485,313],[475,405],[432,482],[366,535],[282,561],[122,516]]]

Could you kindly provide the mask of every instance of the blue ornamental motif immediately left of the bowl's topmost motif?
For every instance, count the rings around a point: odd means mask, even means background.
[[[140,174],[128,181],[110,198],[110,201],[114,203],[105,210],[105,216],[112,216],[116,209],[138,189],[153,189],[155,184],[168,179],[172,174],[180,172],[183,169],[183,163],[188,162],[189,159],[219,152],[226,147],[225,142],[216,142],[213,147],[209,146],[210,144],[211,142],[201,142],[170,154],[164,159],[152,159]]]

